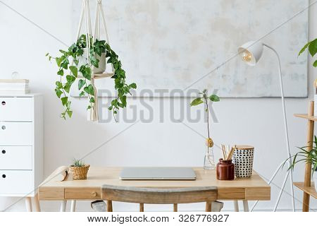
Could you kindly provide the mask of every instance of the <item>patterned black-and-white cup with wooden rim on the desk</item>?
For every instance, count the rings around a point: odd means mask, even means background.
[[[253,169],[254,147],[240,145],[235,148],[233,162],[235,163],[235,177],[251,177]]]

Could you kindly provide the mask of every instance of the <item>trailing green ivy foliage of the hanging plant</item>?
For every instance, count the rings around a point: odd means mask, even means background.
[[[113,112],[113,117],[117,114],[119,108],[124,108],[127,106],[127,95],[130,93],[131,89],[136,89],[137,85],[131,83],[128,85],[125,83],[125,71],[122,69],[121,61],[118,59],[118,55],[114,52],[110,45],[105,40],[95,40],[89,38],[90,51],[89,58],[90,61],[87,64],[80,65],[80,57],[84,54],[84,49],[87,48],[86,35],[81,35],[77,42],[72,44],[68,50],[59,50],[61,52],[60,57],[49,57],[49,61],[54,59],[58,66],[57,74],[59,76],[58,81],[56,81],[55,93],[59,99],[61,99],[64,111],[61,113],[61,118],[66,119],[66,117],[72,117],[73,111],[70,108],[71,101],[69,98],[70,88],[75,82],[76,78],[82,74],[82,78],[78,81],[78,90],[80,90],[80,97],[87,95],[89,98],[89,105],[87,109],[93,108],[95,105],[94,100],[94,87],[89,83],[92,78],[92,66],[95,68],[99,67],[99,59],[97,55],[101,57],[101,54],[106,53],[106,62],[113,65],[113,76],[111,78],[115,81],[115,89],[118,92],[118,96],[111,101],[109,110]],[[71,64],[73,62],[73,64]],[[116,118],[115,118],[116,119]]]

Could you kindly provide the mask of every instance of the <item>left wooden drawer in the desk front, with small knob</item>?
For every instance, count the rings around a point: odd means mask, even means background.
[[[97,200],[101,198],[101,188],[68,188],[65,189],[65,199]]]

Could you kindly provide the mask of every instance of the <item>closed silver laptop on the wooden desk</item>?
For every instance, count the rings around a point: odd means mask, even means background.
[[[196,179],[192,168],[188,167],[125,167],[120,179]]]

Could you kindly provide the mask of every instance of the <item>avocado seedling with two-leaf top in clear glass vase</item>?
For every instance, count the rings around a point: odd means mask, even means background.
[[[204,158],[204,169],[215,169],[215,160],[213,157],[213,140],[210,137],[210,128],[209,128],[209,101],[219,102],[220,98],[215,94],[208,96],[207,90],[203,90],[199,94],[201,95],[201,97],[194,99],[190,103],[190,106],[193,107],[193,106],[197,106],[201,104],[205,105],[205,112],[207,116],[208,138],[206,139],[207,151]]]

